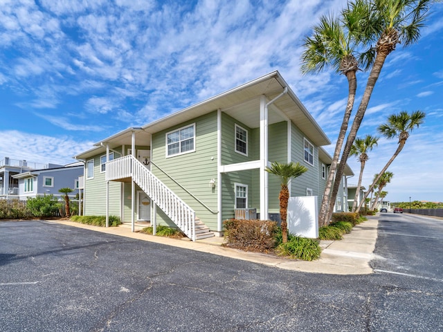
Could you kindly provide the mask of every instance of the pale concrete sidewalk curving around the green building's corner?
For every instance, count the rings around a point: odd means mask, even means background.
[[[309,273],[325,273],[334,275],[366,275],[372,273],[369,261],[374,258],[375,242],[377,241],[378,217],[368,216],[368,221],[354,226],[350,234],[345,234],[340,241],[320,241],[322,252],[320,259],[316,261],[301,261],[266,255],[257,252],[244,252],[233,248],[221,246],[223,238],[213,237],[196,242],[169,239],[167,237],[154,237],[152,235],[131,232],[127,227],[102,228],[98,226],[83,225],[72,221],[49,221],[61,223],[96,232],[114,234],[120,237],[129,237],[141,241],[162,243],[167,246],[175,246],[213,255],[253,261],[258,264],[283,268],[285,270],[297,270]]]

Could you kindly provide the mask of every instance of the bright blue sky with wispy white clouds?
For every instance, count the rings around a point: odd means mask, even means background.
[[[300,73],[303,37],[346,1],[0,1],[0,158],[71,163],[93,142],[278,70],[334,142],[343,75]],[[443,3],[422,38],[389,55],[359,136],[399,111],[426,112],[391,165],[390,201],[443,201]],[[367,73],[357,76],[359,92]],[[357,95],[358,104],[361,94]],[[333,154],[334,144],[325,147]],[[397,148],[379,140],[368,187]],[[349,164],[356,174],[359,163]]]

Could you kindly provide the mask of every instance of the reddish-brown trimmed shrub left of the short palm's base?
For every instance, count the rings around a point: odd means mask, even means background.
[[[275,221],[228,219],[224,227],[226,246],[258,252],[275,248]]]

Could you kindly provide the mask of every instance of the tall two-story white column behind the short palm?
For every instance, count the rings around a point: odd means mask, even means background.
[[[260,219],[268,219],[268,108],[266,98],[260,97]]]

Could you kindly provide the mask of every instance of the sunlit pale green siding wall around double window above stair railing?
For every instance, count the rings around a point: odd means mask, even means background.
[[[188,124],[195,123],[195,151],[166,158],[165,134]],[[159,168],[152,165],[151,171],[165,185],[195,210],[196,216],[206,223],[211,230],[217,230],[217,214],[210,212],[199,201],[183,190],[172,178],[183,185],[192,195],[217,212],[217,187],[209,185],[211,178],[217,179],[217,111],[205,116],[183,122],[179,126],[154,133],[152,136],[152,160]],[[219,185],[218,183],[216,186]],[[157,221],[163,225],[174,223],[157,209]]]

